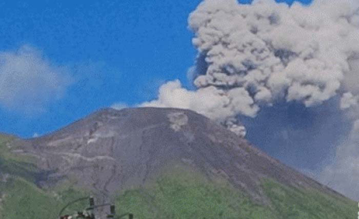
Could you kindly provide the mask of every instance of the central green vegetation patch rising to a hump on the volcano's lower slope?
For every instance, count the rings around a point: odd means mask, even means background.
[[[210,183],[199,173],[179,168],[146,188],[122,193],[116,205],[135,218],[275,218],[225,182]]]

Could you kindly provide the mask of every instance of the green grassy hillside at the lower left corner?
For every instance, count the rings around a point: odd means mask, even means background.
[[[39,189],[35,185],[39,171],[32,158],[11,153],[7,147],[10,144],[11,150],[14,149],[13,139],[0,134],[0,173],[9,174],[6,179],[0,178],[0,219],[57,218],[58,211],[64,205],[84,196],[83,192],[71,186],[60,186],[51,191]],[[81,204],[73,207],[82,209]]]

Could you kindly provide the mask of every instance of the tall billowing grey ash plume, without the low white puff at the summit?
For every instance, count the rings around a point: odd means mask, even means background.
[[[208,65],[197,88],[244,88],[252,99],[241,113],[254,116],[279,99],[314,106],[358,78],[359,29],[354,1],[317,1],[310,7],[255,1],[207,0],[191,13],[193,44]],[[357,90],[357,89],[356,89]]]

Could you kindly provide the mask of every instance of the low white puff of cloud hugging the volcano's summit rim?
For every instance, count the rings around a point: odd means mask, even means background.
[[[252,103],[247,91],[242,88],[233,89],[229,94],[214,86],[189,91],[181,86],[181,82],[175,80],[159,88],[158,99],[139,106],[191,109],[221,121],[234,113],[255,115],[257,108],[252,107]]]

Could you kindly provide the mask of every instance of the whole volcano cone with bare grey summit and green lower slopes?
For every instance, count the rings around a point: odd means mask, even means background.
[[[106,108],[53,133],[28,140],[13,139],[6,145],[7,153],[27,157],[32,168],[15,163],[6,166],[6,158],[1,162],[0,156],[0,176],[25,178],[47,194],[57,192],[58,199],[66,196],[58,195],[58,188],[71,187],[79,193],[91,193],[101,202],[117,200],[137,212],[137,218],[196,218],[196,210],[211,209],[218,211],[213,212],[216,217],[201,218],[334,219],[356,214],[355,204],[348,198],[190,110]],[[2,163],[7,168],[2,168]],[[14,171],[9,166],[24,170]],[[161,180],[164,178],[167,180]],[[4,194],[9,188],[5,184],[9,183],[10,180],[3,181]],[[0,189],[1,185],[0,182]],[[202,188],[206,189],[198,193]],[[236,193],[238,196],[232,197]],[[174,203],[169,201],[174,197]],[[184,207],[191,198],[197,201]],[[212,199],[218,205],[207,203]],[[4,200],[6,203],[7,198]],[[184,202],[182,207],[173,207],[179,200]],[[246,209],[242,209],[244,205],[234,206],[243,200],[250,203]],[[197,202],[207,204],[196,207]],[[223,208],[203,210],[212,204]],[[1,205],[0,202],[0,212]],[[147,213],[141,213],[144,209]],[[188,214],[192,216],[178,216],[176,211],[184,211],[181,215],[192,212]],[[236,212],[247,213],[241,217]]]

